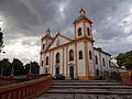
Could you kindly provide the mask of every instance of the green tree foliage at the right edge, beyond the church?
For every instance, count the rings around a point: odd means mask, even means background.
[[[119,54],[117,61],[119,66],[125,66],[127,69],[132,69],[132,51]]]

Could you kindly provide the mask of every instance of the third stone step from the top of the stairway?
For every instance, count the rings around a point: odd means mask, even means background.
[[[52,86],[52,89],[132,89],[130,86]]]

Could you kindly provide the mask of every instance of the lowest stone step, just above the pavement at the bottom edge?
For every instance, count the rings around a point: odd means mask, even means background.
[[[50,89],[47,94],[87,94],[87,95],[132,95],[132,90],[124,89]]]

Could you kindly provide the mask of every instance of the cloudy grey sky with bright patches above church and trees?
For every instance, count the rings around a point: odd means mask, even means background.
[[[132,0],[0,0],[6,52],[0,58],[38,62],[46,29],[74,38],[73,21],[81,8],[94,22],[96,47],[111,55],[132,50]]]

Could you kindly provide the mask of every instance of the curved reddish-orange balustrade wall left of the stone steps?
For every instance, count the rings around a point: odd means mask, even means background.
[[[0,99],[34,99],[52,85],[52,76],[0,87]]]

